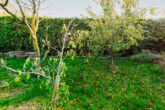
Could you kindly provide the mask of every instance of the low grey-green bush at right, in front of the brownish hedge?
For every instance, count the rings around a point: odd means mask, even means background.
[[[141,53],[132,55],[130,60],[139,61],[139,62],[150,62],[156,63],[162,59],[162,56],[159,54],[154,54],[149,50],[143,50]]]

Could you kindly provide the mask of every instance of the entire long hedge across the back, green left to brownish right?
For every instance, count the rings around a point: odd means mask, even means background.
[[[90,19],[89,19],[90,20]],[[61,30],[63,24],[68,24],[70,18],[42,18],[37,32],[39,46],[41,52],[44,52],[42,47],[42,39],[45,35],[45,22],[50,26],[48,30],[49,40],[55,46],[59,46],[58,40],[62,37]],[[90,30],[86,19],[76,18],[73,21],[76,24],[76,30]],[[165,22],[163,23],[148,20],[144,24],[145,40],[140,41],[139,47],[131,47],[127,51],[121,51],[122,55],[130,55],[141,51],[142,49],[149,49],[153,51],[165,51]],[[0,52],[8,52],[13,50],[33,51],[32,42],[28,29],[22,25],[17,19],[13,17],[0,17]],[[136,50],[136,51],[135,51]],[[51,54],[54,54],[51,52]]]

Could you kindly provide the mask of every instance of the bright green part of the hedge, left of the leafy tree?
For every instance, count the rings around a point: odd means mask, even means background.
[[[37,37],[39,41],[39,47],[41,48],[42,53],[44,53],[45,47],[43,47],[42,40],[45,39],[46,25],[48,24],[48,39],[51,41],[52,46],[58,48],[58,41],[62,38],[62,27],[63,24],[68,24],[70,18],[42,18],[39,24],[39,30],[37,32]],[[90,30],[87,26],[84,19],[74,19],[73,24],[76,24],[75,30]],[[12,17],[0,17],[0,51],[8,52],[13,50],[26,50],[32,51],[33,45],[29,36],[29,31],[24,25]],[[51,52],[54,54],[54,52]]]

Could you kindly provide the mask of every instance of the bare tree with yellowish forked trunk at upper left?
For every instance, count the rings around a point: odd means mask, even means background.
[[[28,29],[32,38],[33,42],[33,48],[35,51],[35,57],[37,61],[37,65],[40,64],[40,49],[38,46],[38,41],[37,41],[37,30],[39,26],[39,9],[41,2],[44,2],[45,0],[14,0],[15,3],[13,3],[13,6],[15,4],[15,7],[18,7],[18,10],[20,13],[13,12],[10,10],[8,6],[10,0],[3,0],[0,3],[0,6],[3,10],[5,10],[9,15],[13,16],[14,18],[18,19],[20,22],[22,22]],[[10,3],[12,4],[12,3]],[[31,12],[31,20],[27,19],[26,16],[26,10],[29,9]],[[18,16],[18,14],[20,16]]]

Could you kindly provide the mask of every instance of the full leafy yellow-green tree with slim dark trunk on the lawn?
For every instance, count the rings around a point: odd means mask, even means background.
[[[101,14],[95,14],[89,7],[88,13],[93,18],[91,27],[91,50],[94,53],[108,51],[110,68],[114,69],[114,52],[129,49],[143,39],[140,19],[143,11],[138,9],[138,0],[94,0],[102,8]]]

